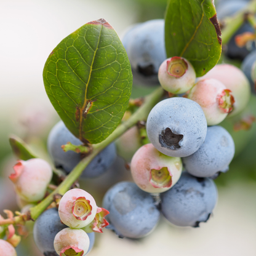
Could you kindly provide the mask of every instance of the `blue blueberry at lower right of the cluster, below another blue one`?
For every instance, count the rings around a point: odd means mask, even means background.
[[[218,191],[210,178],[196,178],[183,172],[174,187],[160,196],[162,214],[170,223],[198,227],[212,214]]]

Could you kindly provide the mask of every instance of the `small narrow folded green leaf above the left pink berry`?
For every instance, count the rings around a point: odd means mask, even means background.
[[[18,159],[26,161],[31,158],[38,158],[33,153],[31,153],[30,149],[28,148],[28,145],[26,145],[26,143],[23,142],[21,138],[12,135],[12,137],[9,138],[9,142],[12,151]]]

